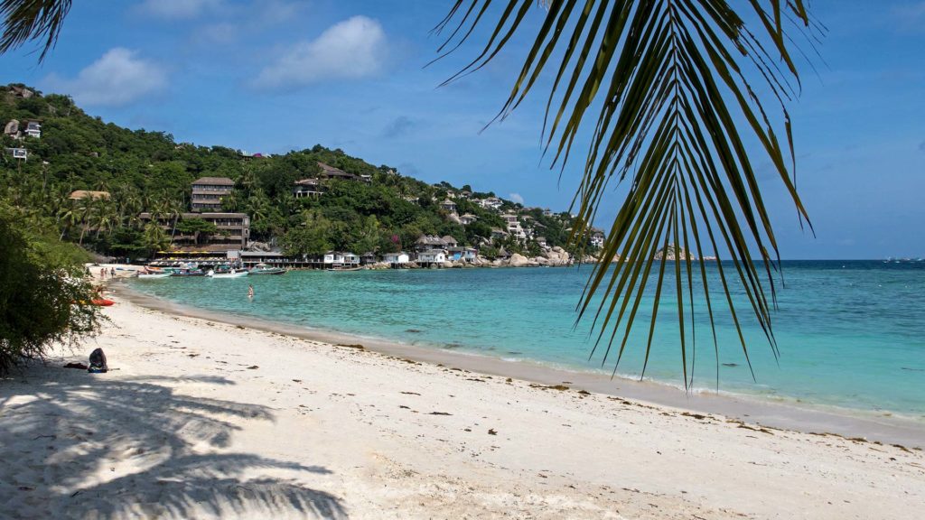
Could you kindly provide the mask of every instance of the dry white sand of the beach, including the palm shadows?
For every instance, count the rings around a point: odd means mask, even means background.
[[[97,339],[0,379],[2,516],[899,519],[925,503],[917,448],[113,299]],[[96,347],[116,370],[62,367]]]

